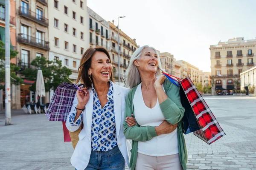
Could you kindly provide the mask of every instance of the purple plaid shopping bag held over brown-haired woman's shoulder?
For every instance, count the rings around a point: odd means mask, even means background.
[[[50,121],[66,122],[76,91],[77,88],[74,84],[67,82],[63,82],[57,87],[45,113]]]

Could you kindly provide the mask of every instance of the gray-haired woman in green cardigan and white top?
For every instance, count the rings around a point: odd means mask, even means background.
[[[123,123],[131,139],[132,170],[186,170],[186,144],[180,122],[185,109],[179,88],[161,75],[157,51],[148,45],[138,48],[124,75],[131,88],[125,101],[125,117],[134,114],[136,126]]]

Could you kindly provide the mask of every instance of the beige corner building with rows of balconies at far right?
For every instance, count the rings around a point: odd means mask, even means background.
[[[232,91],[234,80],[240,81],[240,73],[252,68],[256,56],[256,40],[244,37],[229,39],[210,45],[211,78],[215,81],[215,91]]]

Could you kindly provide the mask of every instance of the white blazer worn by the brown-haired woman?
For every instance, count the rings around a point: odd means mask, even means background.
[[[125,135],[123,133],[123,127],[122,127],[122,124],[125,119],[124,117],[125,116],[125,97],[128,94],[129,89],[116,85],[113,82],[112,82],[112,85],[113,85],[114,111],[115,111],[115,119],[116,119],[117,145],[119,147],[119,150],[122,153],[122,156],[125,159],[125,165],[129,167],[130,154],[128,153],[130,152],[131,144],[130,142],[127,142]],[[73,106],[71,108],[71,112],[75,110],[77,103],[78,103],[78,100],[77,100],[77,97],[75,96],[73,101]],[[90,91],[90,98],[87,104],[85,105],[85,110],[83,112],[84,127],[79,133],[79,141],[70,159],[71,164],[77,170],[84,170],[87,167],[90,160],[92,116],[93,116],[93,91]],[[74,132],[79,128],[79,126],[71,126],[69,119],[67,119],[66,126],[70,132]]]

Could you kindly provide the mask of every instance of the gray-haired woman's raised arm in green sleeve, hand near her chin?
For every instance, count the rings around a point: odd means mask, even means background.
[[[163,91],[162,84],[165,84],[166,92]],[[180,102],[180,89],[166,80],[165,75],[160,76],[154,83],[157,92],[157,99],[166,121],[172,125],[177,124],[183,118],[185,109]]]

